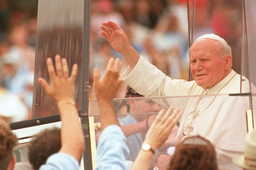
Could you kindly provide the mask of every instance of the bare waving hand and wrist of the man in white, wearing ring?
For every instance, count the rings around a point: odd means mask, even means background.
[[[112,21],[103,22],[100,26],[103,35],[112,45],[112,47],[119,52],[126,62],[133,69],[139,60],[139,53],[132,47],[124,30]]]

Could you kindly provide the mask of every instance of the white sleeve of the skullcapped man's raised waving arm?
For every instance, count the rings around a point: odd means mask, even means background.
[[[128,66],[124,70],[122,78],[125,83],[145,97],[190,95],[196,85],[195,81],[171,79],[142,56],[134,69]]]

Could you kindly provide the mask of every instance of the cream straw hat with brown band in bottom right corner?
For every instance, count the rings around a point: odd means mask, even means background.
[[[256,170],[256,130],[248,133],[244,154],[233,158],[233,162],[243,170]]]

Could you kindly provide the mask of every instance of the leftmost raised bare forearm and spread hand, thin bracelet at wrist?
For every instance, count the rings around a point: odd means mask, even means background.
[[[57,103],[60,111],[62,126],[59,152],[67,153],[79,161],[85,149],[85,143],[74,101],[78,66],[74,64],[69,77],[67,60],[61,60],[60,56],[56,55],[55,63],[56,73],[52,60],[48,58],[46,61],[50,85],[42,77],[38,80],[46,93]]]

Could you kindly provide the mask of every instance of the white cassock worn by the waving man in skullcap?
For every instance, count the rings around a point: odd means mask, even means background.
[[[231,159],[244,151],[247,134],[245,111],[249,109],[249,97],[228,95],[240,93],[241,76],[234,70],[215,86],[204,90],[195,81],[171,79],[141,56],[134,69],[126,68],[122,78],[146,97],[208,94],[183,97],[182,101],[179,98],[167,99],[169,105],[181,103],[184,106],[181,108],[178,135],[187,134],[193,114],[198,113],[192,121],[189,135],[201,135],[212,142],[220,170],[240,169]],[[245,77],[243,79],[241,92],[247,93],[249,81]]]

